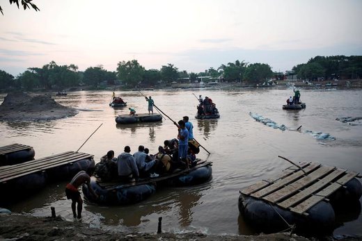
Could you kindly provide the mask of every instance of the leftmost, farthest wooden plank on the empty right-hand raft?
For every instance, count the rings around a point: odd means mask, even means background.
[[[308,166],[310,163],[301,163],[299,164],[301,167],[306,167]],[[290,174],[299,171],[298,167],[295,167],[295,169],[293,168],[295,166],[290,166],[287,167],[286,169],[283,170],[282,174],[279,174],[278,176],[274,176],[274,178],[269,178],[267,180],[262,180],[259,181],[258,183],[255,183],[253,185],[249,185],[249,187],[244,188],[243,190],[240,190],[239,192],[242,194],[246,194],[246,195],[250,195],[253,192],[257,192],[258,190],[267,187],[268,185],[271,185],[272,183],[285,178],[286,176],[289,176]]]

